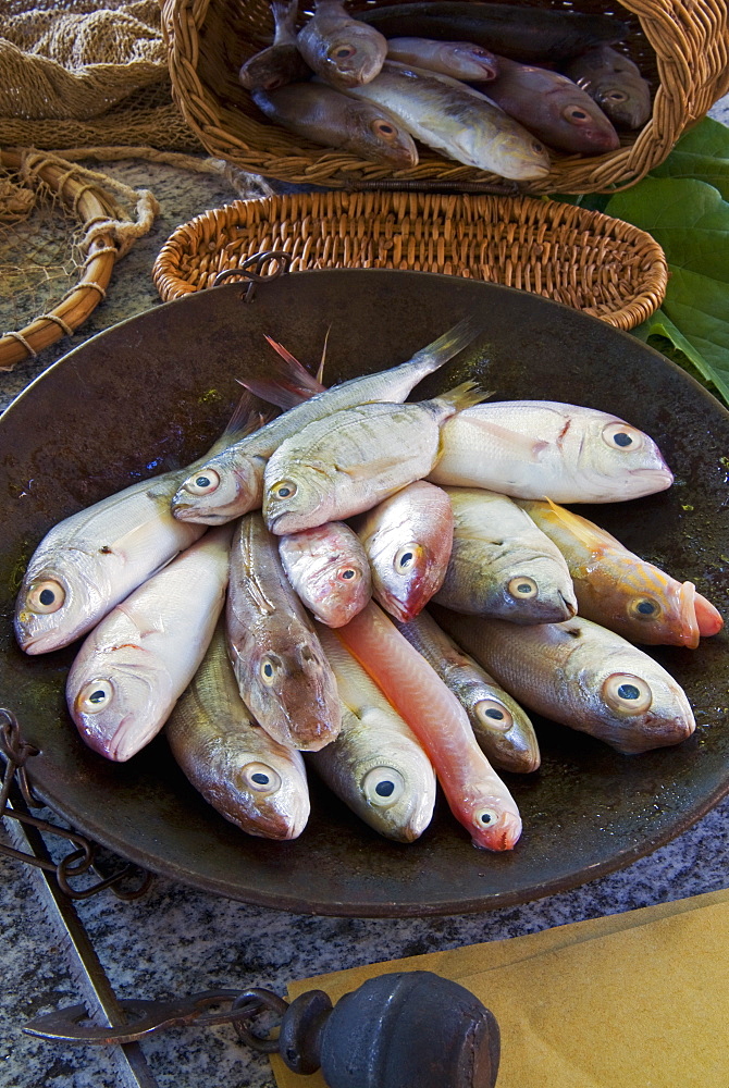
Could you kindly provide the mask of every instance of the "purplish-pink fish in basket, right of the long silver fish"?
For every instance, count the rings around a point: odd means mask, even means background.
[[[481,89],[481,88],[479,88]],[[577,154],[615,151],[620,138],[585,90],[558,72],[498,58],[483,94],[549,147]]]

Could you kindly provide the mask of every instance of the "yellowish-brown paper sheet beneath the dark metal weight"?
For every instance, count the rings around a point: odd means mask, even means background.
[[[293,982],[433,970],[498,1019],[498,1088],[728,1088],[729,890]],[[272,1060],[279,1088],[322,1088]]]

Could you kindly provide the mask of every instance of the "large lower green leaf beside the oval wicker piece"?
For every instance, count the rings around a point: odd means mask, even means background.
[[[615,194],[606,213],[647,231],[666,254],[666,298],[642,338],[668,337],[729,403],[729,203],[705,182],[645,177]]]

